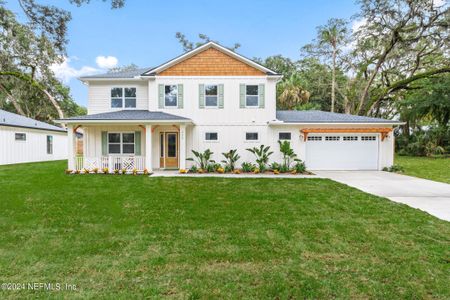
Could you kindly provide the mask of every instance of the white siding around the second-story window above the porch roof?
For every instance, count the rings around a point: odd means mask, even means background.
[[[111,108],[111,88],[135,87],[136,109],[148,109],[148,90],[146,81],[93,81],[89,83],[88,114],[121,110]]]

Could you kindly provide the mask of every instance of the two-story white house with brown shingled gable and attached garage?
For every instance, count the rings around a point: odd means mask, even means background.
[[[69,133],[69,169],[185,169],[191,150],[213,159],[289,140],[311,170],[379,170],[393,163],[398,122],[322,111],[277,111],[281,75],[214,42],[158,67],[80,78],[88,115],[60,120]],[[74,132],[84,131],[83,157]]]

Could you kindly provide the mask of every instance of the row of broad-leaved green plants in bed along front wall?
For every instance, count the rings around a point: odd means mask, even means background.
[[[278,144],[282,154],[281,162],[272,162],[269,164],[269,159],[273,151],[270,150],[270,146],[260,145],[259,147],[246,149],[255,156],[255,163],[243,162],[240,168],[237,167],[237,162],[241,157],[236,149],[222,153],[224,159],[221,163],[211,159],[214,153],[210,149],[206,149],[204,152],[192,150],[193,157],[187,160],[193,161],[194,165],[188,170],[181,169],[180,173],[312,174],[306,170],[305,163],[297,158],[297,154],[295,154],[288,141],[278,141]]]

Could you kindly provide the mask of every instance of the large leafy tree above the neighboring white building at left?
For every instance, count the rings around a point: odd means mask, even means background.
[[[125,3],[125,0],[110,1],[112,8]],[[68,115],[83,112],[50,69],[52,64],[64,60],[70,13],[35,0],[18,2],[27,22],[17,21],[0,0],[0,105],[45,121],[63,118],[65,109]],[[90,0],[69,2],[80,6]]]

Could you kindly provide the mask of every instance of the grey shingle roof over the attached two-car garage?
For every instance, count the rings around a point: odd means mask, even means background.
[[[285,123],[401,123],[380,118],[331,113],[320,110],[278,110],[277,120]]]

